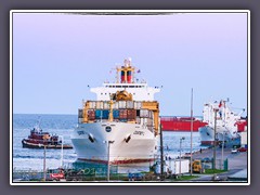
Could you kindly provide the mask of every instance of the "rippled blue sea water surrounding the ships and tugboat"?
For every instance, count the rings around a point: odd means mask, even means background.
[[[77,126],[78,119],[76,115],[13,115],[13,130],[12,131],[12,153],[13,153],[13,170],[37,170],[43,169],[43,152],[44,150],[24,148],[22,140],[27,138],[30,129],[34,128],[40,117],[40,127],[43,131],[51,134],[63,135],[64,143],[72,144],[70,134]],[[180,154],[180,138],[184,136],[182,141],[182,154],[191,152],[191,132],[173,132],[164,131],[164,154],[176,158]],[[193,151],[203,148],[200,146],[200,138],[198,132],[193,132]],[[62,150],[47,150],[46,161],[47,168],[57,168],[62,164]],[[159,151],[158,151],[159,154]],[[74,150],[63,150],[63,165],[69,166],[77,160],[77,154]],[[127,171],[146,170],[145,165],[127,166]],[[122,172],[123,166],[121,168]]]

